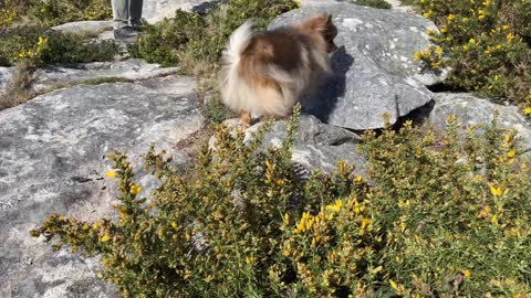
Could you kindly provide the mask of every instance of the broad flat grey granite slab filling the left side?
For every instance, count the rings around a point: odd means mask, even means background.
[[[54,212],[88,221],[108,215],[112,149],[138,161],[157,142],[187,162],[171,149],[202,126],[196,97],[192,78],[168,76],[79,85],[0,113],[0,297],[116,296],[96,278],[97,259],[54,253],[29,232]]]

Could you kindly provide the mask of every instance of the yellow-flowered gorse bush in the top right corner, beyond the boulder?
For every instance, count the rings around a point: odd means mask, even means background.
[[[416,54],[433,68],[450,67],[447,83],[490,97],[531,104],[531,1],[417,0],[440,32]]]

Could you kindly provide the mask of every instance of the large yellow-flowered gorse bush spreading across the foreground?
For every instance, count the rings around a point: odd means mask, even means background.
[[[115,221],[51,215],[33,236],[101,255],[123,297],[525,297],[531,294],[531,168],[513,131],[440,135],[406,123],[363,137],[371,184],[344,162],[296,174],[268,125],[218,127],[186,174],[152,150],[150,196],[113,152]]]

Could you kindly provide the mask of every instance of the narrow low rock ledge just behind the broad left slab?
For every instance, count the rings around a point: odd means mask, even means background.
[[[160,67],[139,58],[118,62],[93,62],[71,65],[48,65],[33,74],[31,89],[42,92],[56,86],[101,81],[137,81],[174,74],[177,67]]]

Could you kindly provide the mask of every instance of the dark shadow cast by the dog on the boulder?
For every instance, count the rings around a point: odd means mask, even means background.
[[[354,64],[354,57],[343,45],[332,54],[331,64],[334,75],[323,82],[315,96],[304,98],[302,103],[303,113],[314,115],[323,123],[327,123],[339,98],[345,95],[346,73]]]

